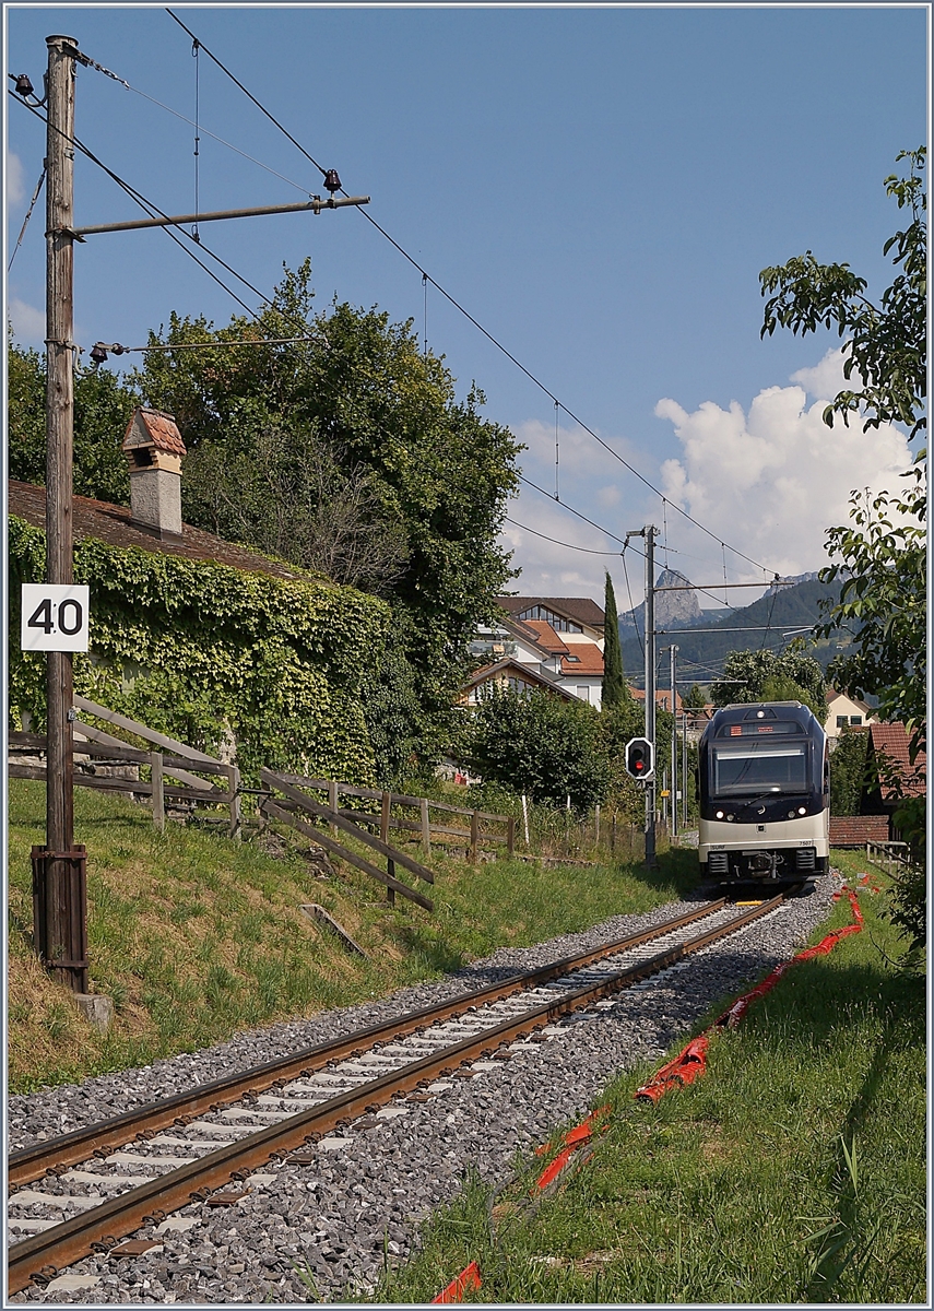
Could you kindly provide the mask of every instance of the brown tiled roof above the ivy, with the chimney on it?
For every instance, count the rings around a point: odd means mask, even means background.
[[[12,515],[25,519],[34,528],[46,527],[46,489],[31,482],[9,480],[8,509]],[[310,581],[315,576],[283,561],[269,560],[266,556],[223,541],[210,532],[182,526],[181,541],[163,541],[156,530],[130,520],[130,510],[123,505],[110,505],[106,501],[92,501],[76,496],[72,499],[72,523],[76,539],[94,538],[110,547],[139,547],[153,555],[180,556],[182,560],[207,560],[213,564],[230,565],[248,573],[265,573],[273,578],[294,578]],[[327,579],[321,579],[327,581]]]

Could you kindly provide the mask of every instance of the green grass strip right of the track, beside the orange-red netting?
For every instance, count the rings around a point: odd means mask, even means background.
[[[712,1038],[703,1079],[657,1106],[632,1100],[655,1066],[615,1082],[593,1156],[534,1215],[516,1203],[543,1163],[521,1165],[496,1242],[470,1183],[374,1301],[429,1301],[476,1260],[476,1302],[925,1303],[924,979],[882,899]],[[843,899],[812,941],[850,918]]]

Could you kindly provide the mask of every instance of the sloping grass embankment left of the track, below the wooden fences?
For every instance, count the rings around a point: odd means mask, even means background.
[[[115,1020],[98,1034],[31,949],[29,852],[45,840],[45,789],[9,791],[9,1087],[28,1092],[146,1065],[231,1034],[437,978],[501,945],[523,947],[644,911],[697,881],[697,857],[543,869],[521,860],[476,868],[433,852],[433,915],[346,865],[315,877],[299,844],[274,857],[209,830],[152,827],[130,801],[75,791],[75,840],[88,848],[88,949],[93,990]],[[307,847],[307,843],[304,844]],[[404,874],[408,878],[408,876]],[[325,907],[370,954],[348,956],[299,911]]]

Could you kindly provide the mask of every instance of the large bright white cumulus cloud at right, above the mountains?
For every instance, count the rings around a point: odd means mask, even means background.
[[[824,423],[843,385],[840,350],[792,380],[802,385],[761,391],[748,414],[737,401],[728,410],[704,401],[689,414],[669,399],[655,412],[682,446],[681,458],[661,467],[665,494],[729,545],[796,574],[826,562],[825,530],[846,523],[850,492],[900,488],[912,456],[892,425],[863,433],[859,421]]]

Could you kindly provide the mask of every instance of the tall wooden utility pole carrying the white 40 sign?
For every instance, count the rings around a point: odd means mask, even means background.
[[[73,37],[47,37],[46,581],[71,583],[73,389]],[[84,847],[75,847],[72,658],[47,654],[46,846],[33,848],[35,948],[52,975],[87,992]]]

